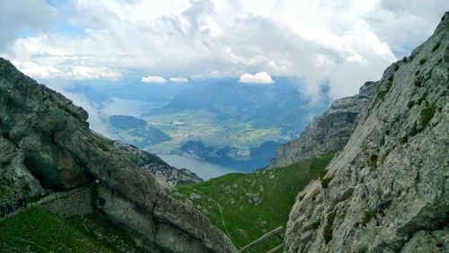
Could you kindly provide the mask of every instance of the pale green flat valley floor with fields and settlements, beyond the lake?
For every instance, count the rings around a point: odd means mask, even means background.
[[[251,122],[219,120],[204,109],[153,116],[148,123],[172,137],[172,141],[146,147],[151,153],[179,153],[180,146],[189,140],[201,140],[216,149],[248,149],[267,141],[287,141],[280,128],[255,128]]]

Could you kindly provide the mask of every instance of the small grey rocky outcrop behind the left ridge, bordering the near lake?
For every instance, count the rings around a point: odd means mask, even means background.
[[[115,141],[113,149],[125,153],[131,161],[143,170],[148,170],[163,188],[173,188],[179,184],[199,183],[197,174],[187,169],[177,169],[168,165],[161,158],[147,153],[135,146]]]

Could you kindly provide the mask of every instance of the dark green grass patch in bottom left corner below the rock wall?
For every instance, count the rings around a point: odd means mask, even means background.
[[[90,214],[67,220],[31,207],[0,221],[0,252],[141,252],[125,231]]]

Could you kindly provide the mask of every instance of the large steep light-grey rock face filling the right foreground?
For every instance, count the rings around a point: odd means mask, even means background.
[[[449,13],[296,197],[286,252],[449,252]]]

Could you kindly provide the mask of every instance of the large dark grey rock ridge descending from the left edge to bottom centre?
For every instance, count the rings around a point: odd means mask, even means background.
[[[92,134],[87,113],[0,58],[0,199],[90,187],[96,212],[151,252],[233,252],[207,217]]]

